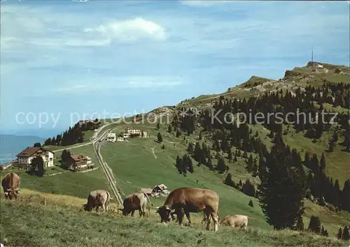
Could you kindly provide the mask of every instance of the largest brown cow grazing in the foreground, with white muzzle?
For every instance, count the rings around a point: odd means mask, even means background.
[[[179,225],[182,225],[186,214],[188,223],[191,223],[190,213],[204,211],[207,216],[207,230],[210,227],[210,216],[214,220],[214,232],[218,230],[218,194],[214,190],[204,188],[176,188],[168,195],[162,207],[158,207],[160,222],[173,220],[174,214],[178,216]],[[172,211],[174,213],[172,214]]]

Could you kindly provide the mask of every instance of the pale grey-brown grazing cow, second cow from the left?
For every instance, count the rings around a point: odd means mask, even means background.
[[[109,210],[109,200],[113,199],[107,190],[93,190],[87,197],[87,204],[83,207],[85,211],[91,211],[96,207],[96,211],[99,207],[102,207],[104,211]]]

